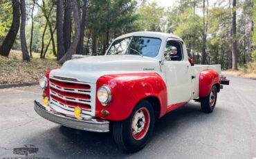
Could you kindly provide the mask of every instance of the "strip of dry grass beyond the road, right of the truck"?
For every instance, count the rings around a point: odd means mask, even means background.
[[[246,66],[240,67],[239,71],[225,70],[222,73],[256,79],[256,62],[250,62]]]

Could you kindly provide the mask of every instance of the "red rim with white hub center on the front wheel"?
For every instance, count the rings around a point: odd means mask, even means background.
[[[150,124],[149,111],[142,107],[136,111],[131,122],[131,135],[135,140],[141,140],[147,134]]]

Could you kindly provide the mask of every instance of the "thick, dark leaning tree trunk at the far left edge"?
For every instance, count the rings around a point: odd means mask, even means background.
[[[16,35],[19,31],[21,17],[19,10],[19,0],[12,0],[12,26],[10,26],[10,30],[6,35],[6,38],[3,40],[3,44],[0,46],[0,55],[2,56],[9,56],[10,49],[15,42]]]

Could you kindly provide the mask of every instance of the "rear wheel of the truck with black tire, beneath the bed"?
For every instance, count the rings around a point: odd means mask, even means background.
[[[200,99],[201,109],[204,113],[212,113],[217,102],[217,87],[214,85],[207,97]]]

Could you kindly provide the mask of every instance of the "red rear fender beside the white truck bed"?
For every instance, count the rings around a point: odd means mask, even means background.
[[[219,73],[212,69],[203,70],[199,78],[199,97],[206,97],[214,84],[219,84]],[[219,91],[219,90],[218,90]]]

